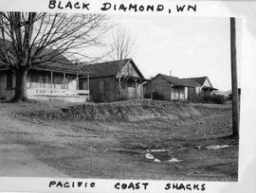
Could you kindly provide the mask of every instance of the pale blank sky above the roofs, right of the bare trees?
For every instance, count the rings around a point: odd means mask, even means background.
[[[133,60],[145,78],[158,73],[178,78],[208,76],[219,90],[230,89],[229,18],[111,16],[136,39]],[[238,63],[241,23],[237,22]]]

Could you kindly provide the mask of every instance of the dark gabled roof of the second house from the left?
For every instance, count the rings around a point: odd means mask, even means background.
[[[84,69],[89,72],[90,78],[116,77],[118,75],[119,69],[129,62],[131,62],[136,69],[138,76],[144,79],[142,73],[138,70],[137,65],[132,59],[124,59],[121,61],[104,61],[87,64],[84,65]]]

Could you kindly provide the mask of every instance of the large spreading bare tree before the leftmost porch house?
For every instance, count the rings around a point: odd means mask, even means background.
[[[0,12],[0,64],[16,74],[12,101],[25,98],[27,71],[58,56],[100,44],[105,16],[36,12]],[[82,55],[89,58],[89,56]]]

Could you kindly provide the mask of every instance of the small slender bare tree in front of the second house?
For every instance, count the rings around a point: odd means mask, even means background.
[[[110,44],[110,58],[117,61],[116,74],[119,79],[118,94],[121,94],[121,69],[125,64],[125,59],[130,59],[135,54],[135,39],[124,28],[118,26],[117,30],[112,33],[112,44]],[[124,79],[123,79],[124,80]]]

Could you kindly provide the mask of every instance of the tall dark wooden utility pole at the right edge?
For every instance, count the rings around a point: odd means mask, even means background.
[[[232,128],[233,136],[239,135],[239,99],[237,88],[236,66],[236,27],[235,18],[230,17],[230,52],[231,52],[231,82],[232,82]]]

